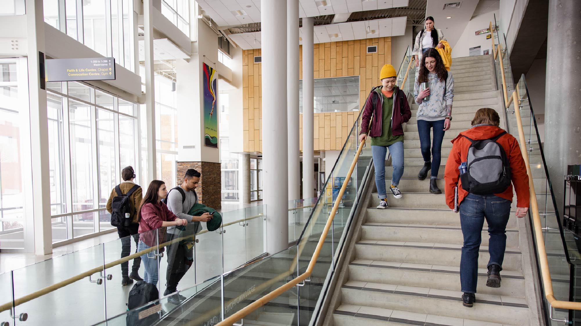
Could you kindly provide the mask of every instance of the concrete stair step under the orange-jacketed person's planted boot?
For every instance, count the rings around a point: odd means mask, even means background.
[[[529,311],[523,298],[476,294],[474,307],[464,309],[461,303],[462,293],[457,291],[406,287],[397,284],[367,283],[365,287],[359,287],[361,283],[354,284],[357,286],[347,284],[341,289],[343,304],[407,310],[408,313],[402,316],[419,318],[418,321],[421,321],[426,314],[436,315],[446,312],[449,317],[454,318],[472,318],[513,325],[528,324]]]

